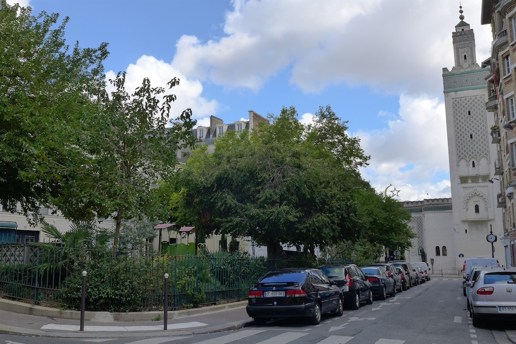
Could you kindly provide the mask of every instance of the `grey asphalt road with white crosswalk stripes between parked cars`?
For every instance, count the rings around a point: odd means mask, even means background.
[[[420,286],[398,293],[385,301],[362,305],[359,310],[346,310],[342,317],[325,315],[321,324],[309,325],[303,320],[280,320],[266,326],[251,325],[235,331],[168,336],[140,334],[96,338],[24,337],[0,334],[2,343],[91,343],[160,344],[160,343],[248,343],[248,344],[507,344],[505,330],[515,330],[514,324],[490,325],[478,329],[468,317],[461,279],[432,277]],[[234,311],[236,312],[236,311]],[[223,313],[218,313],[219,317]],[[209,316],[208,316],[209,317]],[[217,317],[217,314],[212,315]],[[241,320],[246,320],[241,315]],[[48,319],[52,320],[52,319]],[[189,319],[195,320],[195,319]],[[209,323],[209,319],[205,318]]]

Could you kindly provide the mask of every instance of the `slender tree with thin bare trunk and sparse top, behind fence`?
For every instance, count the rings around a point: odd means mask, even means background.
[[[174,78],[167,85],[172,88],[179,81]],[[167,127],[176,97],[151,87],[147,78],[133,94],[125,91],[125,73],[109,82],[116,90],[97,94],[98,113],[76,128],[81,154],[69,162],[69,169],[55,167],[69,173],[70,182],[63,183],[53,201],[68,218],[116,219],[115,256],[122,219],[138,219],[152,207],[151,183],[171,178],[175,152],[195,141],[191,128],[196,121],[186,109]]]

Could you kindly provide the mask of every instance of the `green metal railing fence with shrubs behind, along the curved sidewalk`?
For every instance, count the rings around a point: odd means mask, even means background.
[[[0,296],[80,309],[82,271],[87,271],[86,308],[125,312],[245,299],[267,271],[316,267],[314,259],[272,260],[245,253],[200,252],[197,256],[71,249],[50,244],[0,244]],[[341,262],[349,263],[349,262]]]

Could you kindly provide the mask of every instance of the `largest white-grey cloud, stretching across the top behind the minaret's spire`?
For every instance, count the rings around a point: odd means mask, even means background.
[[[490,27],[477,24],[480,8],[481,0],[464,8],[478,28],[479,61],[492,40]],[[346,82],[437,94],[441,69],[454,60],[450,23],[459,23],[458,10],[447,0],[235,1],[226,36],[205,43],[183,36],[172,65],[188,77],[253,90],[290,68],[291,83],[305,92]]]

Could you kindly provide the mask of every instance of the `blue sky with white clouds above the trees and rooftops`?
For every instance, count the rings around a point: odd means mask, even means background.
[[[173,115],[233,123],[330,105],[370,156],[362,177],[401,201],[451,196],[442,69],[459,20],[490,56],[481,0],[8,0],[69,17],[73,47],[107,42],[107,78],[181,79]],[[393,193],[394,192],[394,193]]]

